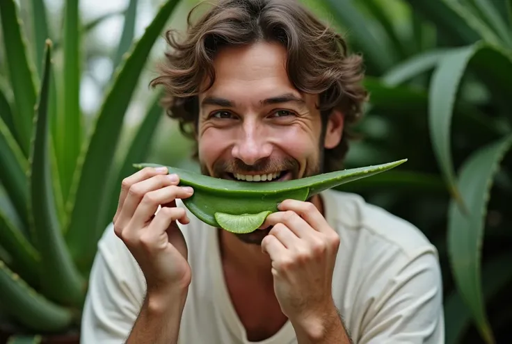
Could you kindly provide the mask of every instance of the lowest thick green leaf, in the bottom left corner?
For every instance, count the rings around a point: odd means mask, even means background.
[[[2,261],[0,304],[9,316],[35,331],[63,331],[73,320],[71,311],[35,292]]]

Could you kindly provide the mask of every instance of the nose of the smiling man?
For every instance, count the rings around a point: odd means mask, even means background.
[[[232,156],[246,165],[254,165],[259,159],[268,158],[272,153],[272,145],[261,129],[255,122],[245,122],[233,146]]]

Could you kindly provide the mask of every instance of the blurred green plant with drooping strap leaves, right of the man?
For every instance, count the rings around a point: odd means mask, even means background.
[[[512,247],[512,1],[323,0],[312,9],[332,14],[366,57],[365,140],[347,165],[410,158],[406,170],[349,189],[438,247],[447,343],[509,341],[511,269],[488,262]]]

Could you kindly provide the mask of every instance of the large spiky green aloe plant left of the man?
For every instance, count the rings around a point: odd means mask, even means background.
[[[145,145],[128,149],[118,165],[113,161],[123,118],[150,50],[178,2],[163,3],[134,42],[137,1],[131,1],[115,55],[119,65],[90,131],[83,130],[78,101],[80,47],[88,27],[99,20],[81,26],[78,1],[65,1],[64,34],[54,38],[63,65],[56,65],[45,3],[32,3],[37,16],[29,47],[17,3],[0,2],[8,70],[8,79],[0,75],[7,80],[0,88],[0,313],[22,332],[15,342],[79,325],[96,243],[108,223],[103,211],[116,202],[105,190],[115,193],[112,185],[127,173],[125,166],[145,158],[163,111],[156,100],[150,104],[136,134],[145,138],[136,142]],[[57,92],[59,77],[63,93]]]

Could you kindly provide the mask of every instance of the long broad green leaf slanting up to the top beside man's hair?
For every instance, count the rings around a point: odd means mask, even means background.
[[[83,271],[90,268],[102,233],[97,215],[131,95],[155,40],[178,2],[167,1],[161,6],[122,68],[116,72],[117,77],[93,124],[93,132],[81,151],[70,195],[67,243],[74,261]],[[92,224],[91,219],[97,219],[97,223]]]

